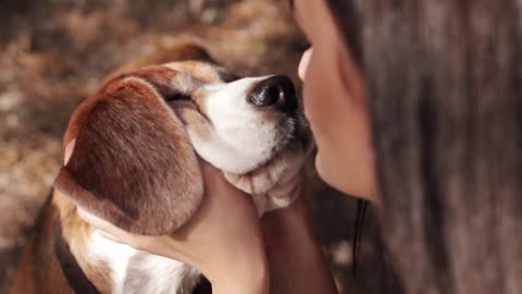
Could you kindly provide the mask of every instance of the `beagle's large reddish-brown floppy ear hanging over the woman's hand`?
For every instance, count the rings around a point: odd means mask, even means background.
[[[77,206],[151,235],[172,233],[198,209],[197,156],[182,122],[142,78],[110,82],[77,108],[67,133],[74,151],[54,187]]]

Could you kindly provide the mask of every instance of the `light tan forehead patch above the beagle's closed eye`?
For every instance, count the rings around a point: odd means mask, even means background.
[[[164,65],[206,84],[222,83],[222,75],[226,72],[226,70],[221,66],[201,61],[171,62]]]

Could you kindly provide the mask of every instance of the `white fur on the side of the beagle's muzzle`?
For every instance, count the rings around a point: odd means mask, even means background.
[[[249,90],[264,77],[247,77],[204,87],[204,113],[212,122],[211,137],[189,131],[196,151],[216,168],[247,173],[269,160],[277,145],[277,122],[266,121],[247,102]]]

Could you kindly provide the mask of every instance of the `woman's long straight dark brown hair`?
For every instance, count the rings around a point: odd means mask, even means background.
[[[405,291],[522,293],[522,3],[326,2],[365,76]]]

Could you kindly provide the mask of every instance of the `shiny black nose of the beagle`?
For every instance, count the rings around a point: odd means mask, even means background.
[[[257,107],[294,111],[297,109],[296,88],[289,77],[274,75],[256,85],[248,101]]]

